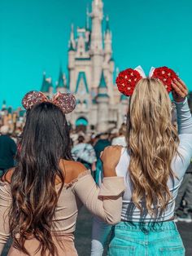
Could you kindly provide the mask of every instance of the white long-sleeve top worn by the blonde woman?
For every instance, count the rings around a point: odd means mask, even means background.
[[[169,201],[168,207],[164,210],[164,213],[157,218],[151,218],[147,211],[144,212],[144,216],[141,215],[132,202],[132,186],[129,177],[129,161],[130,156],[127,148],[122,148],[121,157],[118,165],[116,166],[116,174],[124,177],[125,191],[123,196],[123,206],[121,210],[122,221],[133,222],[151,222],[151,221],[166,221],[173,217],[175,199],[177,197],[178,189],[181,186],[181,181],[185,174],[185,170],[190,165],[190,159],[192,157],[192,117],[190,114],[190,108],[185,99],[181,103],[177,103],[177,124],[180,143],[178,146],[178,152],[182,157],[177,155],[172,159],[172,170],[176,174],[177,178],[173,180],[168,179],[168,188],[172,193],[172,200]],[[101,222],[98,218],[94,219],[93,231],[92,231],[92,249],[91,255],[98,256],[103,254],[103,245],[107,239],[107,235],[111,230],[111,226]]]

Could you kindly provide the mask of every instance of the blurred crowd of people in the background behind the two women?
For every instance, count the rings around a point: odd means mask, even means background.
[[[91,170],[91,174],[96,183],[101,178],[102,162],[100,153],[110,145],[120,145],[126,147],[126,124],[123,123],[120,129],[113,129],[100,134],[85,131],[71,131],[72,157],[75,161],[80,161],[85,167]],[[12,136],[9,126],[0,128],[0,177],[15,166],[15,154],[20,135]],[[97,166],[97,168],[96,168]],[[190,166],[185,172],[184,179],[179,188],[175,205],[175,222],[192,222],[192,159]]]

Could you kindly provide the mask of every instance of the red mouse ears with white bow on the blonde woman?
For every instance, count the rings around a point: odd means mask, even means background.
[[[167,67],[151,68],[149,77],[159,79],[163,82],[168,93],[172,91],[173,80],[178,79],[177,74],[171,68]],[[118,77],[116,77],[116,85],[121,93],[126,96],[131,96],[133,95],[133,90],[137,85],[137,82],[142,78],[146,78],[146,74],[141,66],[138,66],[135,69],[127,68],[124,71],[121,71]]]

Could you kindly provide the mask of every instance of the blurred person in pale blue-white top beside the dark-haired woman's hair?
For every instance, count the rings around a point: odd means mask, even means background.
[[[95,163],[97,161],[94,148],[90,143],[85,143],[85,137],[79,135],[78,143],[72,148],[72,157],[75,161],[80,161],[87,169],[92,171],[94,176]]]

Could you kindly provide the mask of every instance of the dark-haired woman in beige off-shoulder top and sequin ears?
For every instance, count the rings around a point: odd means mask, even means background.
[[[75,256],[82,203],[107,223],[118,223],[124,180],[105,169],[98,188],[89,170],[72,161],[65,114],[75,108],[74,96],[57,93],[48,99],[31,91],[23,105],[27,117],[17,165],[0,181],[0,254],[11,234],[8,255]],[[117,152],[116,163],[118,157]]]

